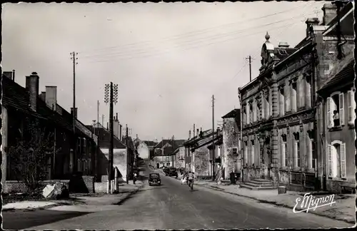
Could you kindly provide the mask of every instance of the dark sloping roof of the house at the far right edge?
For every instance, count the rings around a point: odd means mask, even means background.
[[[339,83],[353,84],[355,78],[354,64],[355,61],[353,59],[346,61],[342,68],[339,68],[339,71],[332,78],[326,81],[326,83],[324,83],[318,91],[326,91],[331,86],[338,86]]]

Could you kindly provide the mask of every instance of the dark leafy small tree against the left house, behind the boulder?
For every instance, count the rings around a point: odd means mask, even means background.
[[[21,136],[16,145],[9,147],[10,168],[16,180],[24,183],[29,193],[34,193],[46,180],[49,154],[54,153],[54,133],[41,128],[39,120],[25,118]]]

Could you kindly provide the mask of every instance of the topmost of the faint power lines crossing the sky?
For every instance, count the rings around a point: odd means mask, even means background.
[[[301,6],[297,6],[297,7],[294,7],[292,9],[285,10],[285,11],[279,11],[279,12],[276,12],[276,13],[273,13],[273,14],[267,14],[265,16],[259,16],[259,17],[253,18],[253,19],[246,19],[246,20],[237,21],[235,23],[223,24],[223,25],[220,25],[220,26],[213,26],[213,27],[208,28],[208,29],[201,29],[201,30],[197,30],[197,31],[186,32],[186,33],[183,33],[183,34],[177,34],[175,36],[168,36],[168,37],[164,37],[160,41],[167,40],[167,39],[180,38],[180,37],[184,37],[185,35],[191,35],[192,36],[192,34],[193,34],[193,36],[194,36],[194,34],[203,34],[204,31],[212,31],[213,29],[218,29],[218,28],[221,28],[221,27],[224,27],[224,26],[231,26],[231,25],[235,25],[235,24],[241,24],[241,23],[243,23],[245,21],[255,21],[255,20],[258,20],[258,19],[265,19],[267,17],[275,16],[275,15],[278,15],[278,14],[284,14],[284,13],[287,13],[289,11],[293,11],[293,10],[298,9],[298,8],[301,8]],[[151,41],[150,40],[146,40],[146,41],[139,41],[139,42],[135,42],[135,43],[127,43],[127,44],[119,45],[119,46],[108,46],[106,48],[97,48],[97,49],[93,49],[93,50],[81,51],[80,53],[87,53],[89,51],[104,51],[104,50],[107,50],[107,49],[123,48],[125,46],[133,46],[133,45],[137,45],[137,44],[140,44],[140,43],[150,43],[150,42],[153,42],[153,41],[152,40]]]

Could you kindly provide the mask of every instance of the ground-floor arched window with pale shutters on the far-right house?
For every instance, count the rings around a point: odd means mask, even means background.
[[[346,178],[346,143],[333,141],[328,145],[328,177]]]

